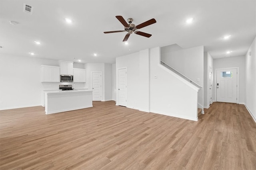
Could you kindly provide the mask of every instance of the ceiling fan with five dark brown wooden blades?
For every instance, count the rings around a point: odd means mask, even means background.
[[[124,30],[121,30],[121,31],[107,31],[107,32],[104,32],[104,33],[118,33],[118,32],[128,32],[125,37],[124,37],[124,40],[123,41],[127,41],[128,38],[130,37],[130,35],[132,33],[135,33],[135,34],[138,34],[138,35],[141,35],[141,36],[144,36],[144,37],[151,37],[151,34],[148,34],[148,33],[144,33],[144,32],[141,32],[141,31],[137,31],[137,29],[140,29],[140,28],[143,28],[143,27],[146,27],[148,25],[151,25],[153,23],[156,23],[156,20],[154,18],[152,18],[151,20],[148,20],[144,23],[141,23],[139,25],[134,25],[132,23],[133,19],[132,18],[128,18],[128,23],[124,20],[124,18],[122,16],[116,16],[116,18],[124,25]]]

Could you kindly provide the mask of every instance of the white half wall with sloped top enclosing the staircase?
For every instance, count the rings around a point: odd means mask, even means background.
[[[196,120],[198,92],[160,68],[159,59],[160,48],[150,49],[150,111]]]

